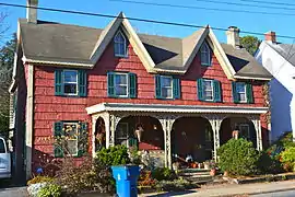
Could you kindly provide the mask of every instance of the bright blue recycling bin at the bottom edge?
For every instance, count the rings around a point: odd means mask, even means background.
[[[111,166],[113,177],[116,179],[118,197],[138,196],[138,177],[140,167],[138,165]]]

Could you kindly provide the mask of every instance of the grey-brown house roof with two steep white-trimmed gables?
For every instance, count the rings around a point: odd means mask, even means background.
[[[234,79],[235,74],[255,77],[250,72],[253,58],[250,59],[247,51],[236,53],[221,45],[210,26],[188,37],[175,38],[137,34],[122,13],[104,30],[44,21],[34,24],[20,20],[19,24],[24,60],[27,62],[91,69],[116,32],[121,30],[149,72],[186,73],[200,46],[208,40],[228,79]],[[237,70],[240,65],[231,60],[232,56],[251,63],[246,63],[244,70]],[[258,74],[264,74],[263,70],[257,70]]]

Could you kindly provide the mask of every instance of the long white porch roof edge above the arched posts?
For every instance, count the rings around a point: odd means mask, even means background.
[[[150,112],[181,114],[264,114],[268,107],[210,106],[210,105],[166,105],[166,104],[132,104],[132,103],[99,103],[86,107],[87,114],[101,112]]]

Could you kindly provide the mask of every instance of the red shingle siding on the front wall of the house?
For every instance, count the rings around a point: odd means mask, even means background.
[[[262,83],[253,83],[255,104],[234,104],[232,84],[223,69],[213,56],[212,67],[201,67],[198,56],[189,70],[180,79],[180,100],[156,100],[154,76],[146,72],[139,57],[129,46],[128,58],[115,58],[113,45],[109,45],[95,68],[87,71],[87,97],[55,96],[54,67],[35,67],[35,115],[34,115],[34,148],[35,154],[42,151],[52,153],[51,142],[44,137],[52,136],[52,125],[57,120],[81,120],[88,123],[91,132],[91,117],[85,107],[102,102],[134,103],[134,104],[173,104],[173,105],[224,105],[224,106],[263,106]],[[107,71],[130,71],[138,77],[137,99],[107,97]],[[200,102],[197,99],[197,78],[216,79],[222,83],[222,103]],[[264,124],[262,124],[264,126]],[[35,160],[37,158],[34,158]]]

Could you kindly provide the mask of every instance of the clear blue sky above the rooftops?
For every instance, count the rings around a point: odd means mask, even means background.
[[[206,25],[212,27],[227,28],[228,26],[238,26],[241,31],[266,33],[268,31],[274,31],[278,35],[287,35],[295,37],[295,2],[293,0],[263,0],[269,3],[255,3],[252,0],[215,0],[220,2],[235,2],[244,4],[260,5],[260,8],[253,7],[240,7],[233,4],[212,3],[212,0],[131,0],[131,1],[143,1],[152,3],[167,3],[177,4],[185,7],[202,7],[209,9],[232,9],[232,10],[249,10],[256,12],[275,12],[278,14],[253,14],[243,12],[221,12],[204,9],[185,9],[185,8],[172,8],[172,7],[160,7],[139,4],[130,2],[121,2],[120,0],[39,0],[39,7],[55,8],[63,10],[84,11],[93,13],[103,13],[117,15],[122,11],[127,18],[141,18],[149,20],[176,22],[176,23],[188,23],[194,25]],[[206,2],[204,2],[206,1]],[[214,0],[213,0],[214,1]],[[26,0],[0,0],[0,2],[26,4]],[[279,5],[272,2],[282,3],[294,3],[291,5]],[[285,9],[267,9],[263,7],[284,7]],[[26,10],[22,8],[9,8],[0,5],[2,12],[8,13],[4,25],[9,26],[8,35],[16,32],[17,19],[26,16]],[[294,10],[292,10],[294,9]],[[280,14],[279,14],[280,13]],[[282,13],[294,13],[294,15],[283,15]],[[111,19],[97,18],[97,16],[85,16],[69,13],[58,13],[48,11],[38,11],[38,20],[54,21],[67,24],[76,24],[82,26],[92,26],[103,28]],[[163,24],[153,24],[145,22],[130,21],[131,25],[140,33],[164,35],[172,37],[185,37],[197,31],[194,27],[181,27]],[[226,42],[226,35],[224,31],[214,31],[215,35],[221,42]],[[240,34],[241,36],[248,34]],[[7,36],[9,37],[9,36]],[[258,36],[263,39],[263,36]],[[278,38],[282,43],[294,43],[293,38]]]

